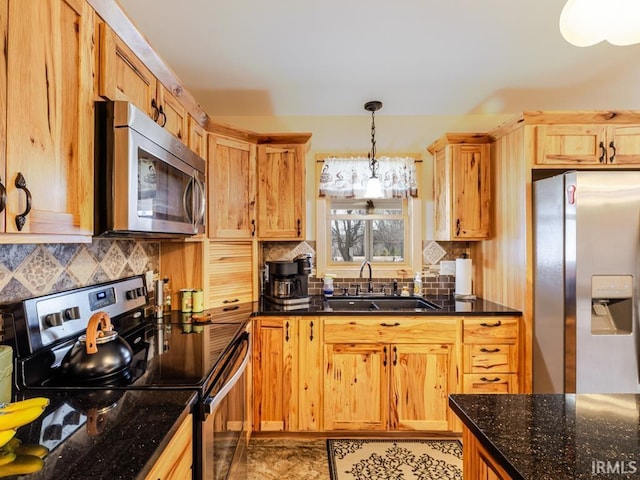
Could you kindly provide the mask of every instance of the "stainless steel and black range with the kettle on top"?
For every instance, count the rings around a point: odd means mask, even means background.
[[[77,418],[83,415],[78,412],[113,409],[126,391],[193,391],[198,399],[193,409],[194,478],[234,478],[230,470],[242,470],[240,457],[246,455],[250,307],[207,311],[206,322],[195,323],[180,312],[160,320],[150,308],[144,277],[134,276],[0,307],[2,343],[15,350],[18,392],[65,394],[59,408],[42,421],[42,441],[50,449],[72,436],[81,420],[90,420]],[[130,347],[131,358],[115,373],[76,378],[62,367],[84,340],[96,312],[110,318],[113,334]]]

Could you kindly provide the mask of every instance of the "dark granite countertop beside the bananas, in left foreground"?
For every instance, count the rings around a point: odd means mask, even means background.
[[[42,470],[19,478],[143,479],[190,414],[195,398],[188,391],[94,393],[100,396],[79,402],[65,393],[30,392],[51,403],[40,417],[18,428],[16,438],[22,444],[45,445],[49,454]],[[113,401],[115,405],[108,408]],[[87,421],[90,406],[107,407],[97,415],[97,422]]]

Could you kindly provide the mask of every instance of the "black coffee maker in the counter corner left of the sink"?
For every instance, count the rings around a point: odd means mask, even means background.
[[[294,308],[309,306],[309,274],[311,255],[302,254],[293,260],[266,262],[268,280],[265,294],[271,302]]]

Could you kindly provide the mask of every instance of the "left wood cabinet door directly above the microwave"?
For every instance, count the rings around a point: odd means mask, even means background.
[[[106,24],[100,25],[99,93],[109,100],[133,103],[158,118],[156,77]]]

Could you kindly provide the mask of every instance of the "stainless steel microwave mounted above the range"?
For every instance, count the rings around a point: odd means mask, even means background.
[[[205,161],[133,104],[95,105],[94,234],[203,233]]]

